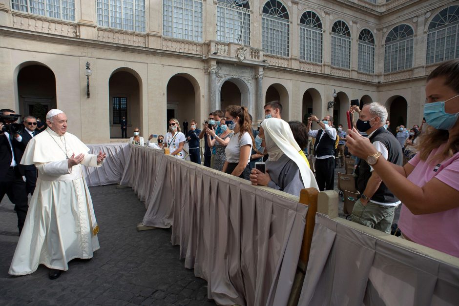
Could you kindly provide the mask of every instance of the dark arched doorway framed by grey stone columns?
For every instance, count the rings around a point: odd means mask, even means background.
[[[230,78],[220,86],[220,109],[225,111],[229,105],[242,105],[249,108],[249,97],[247,84],[241,79]]]

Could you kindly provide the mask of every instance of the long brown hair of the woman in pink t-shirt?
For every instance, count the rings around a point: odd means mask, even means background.
[[[427,77],[427,82],[436,78],[444,78],[445,85],[459,94],[459,60],[446,61],[435,68]],[[438,130],[435,127],[427,126],[422,129],[419,139],[419,154],[423,161],[427,161],[433,149],[438,148],[443,143],[448,143],[449,131]],[[432,161],[442,161],[451,157],[459,151],[459,136],[451,140],[442,152],[438,152]]]

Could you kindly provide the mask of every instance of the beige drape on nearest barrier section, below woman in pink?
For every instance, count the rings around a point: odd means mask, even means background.
[[[449,259],[440,261],[317,214],[298,305],[458,305],[459,259]]]

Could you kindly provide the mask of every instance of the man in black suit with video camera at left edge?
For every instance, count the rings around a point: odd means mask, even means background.
[[[15,113],[11,109],[1,109],[0,112],[3,115]],[[13,122],[5,120],[6,124]],[[4,132],[2,130],[4,126],[5,124],[0,122],[0,201],[6,194],[10,201],[15,204],[18,228],[21,234],[28,208],[25,182],[22,180],[23,166],[19,164],[25,145],[21,142],[21,135],[10,135],[8,132]]]

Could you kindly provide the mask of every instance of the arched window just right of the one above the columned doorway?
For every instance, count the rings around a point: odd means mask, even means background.
[[[289,13],[285,6],[276,0],[269,0],[263,7],[262,45],[263,51],[270,54],[289,56],[290,52]]]

